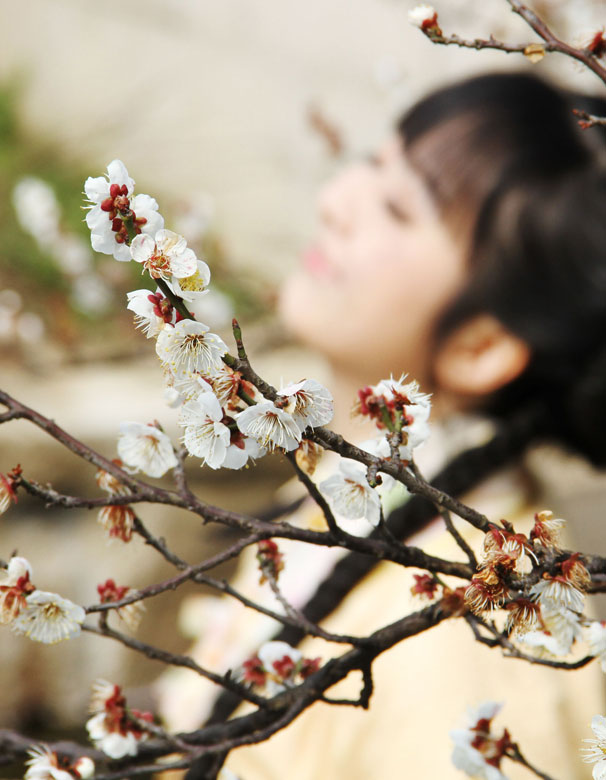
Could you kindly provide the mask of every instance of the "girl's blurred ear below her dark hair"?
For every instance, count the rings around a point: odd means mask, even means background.
[[[469,400],[488,396],[516,379],[530,348],[490,314],[479,314],[448,335],[434,362],[437,387]]]

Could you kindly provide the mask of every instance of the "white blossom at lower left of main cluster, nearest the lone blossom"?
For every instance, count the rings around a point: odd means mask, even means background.
[[[223,409],[212,392],[202,392],[181,407],[179,425],[185,428],[183,443],[187,451],[212,469],[218,469],[225,460],[231,432],[224,425]]]

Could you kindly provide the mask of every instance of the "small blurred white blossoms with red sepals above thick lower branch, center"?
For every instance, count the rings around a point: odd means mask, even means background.
[[[267,696],[276,696],[319,668],[319,658],[304,658],[286,642],[265,642],[256,655],[244,661],[241,677],[244,682],[262,688]]]

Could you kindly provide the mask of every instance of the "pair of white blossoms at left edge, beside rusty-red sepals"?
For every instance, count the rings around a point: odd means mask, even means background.
[[[54,644],[78,636],[86,613],[56,593],[38,590],[31,581],[32,567],[13,556],[0,569],[0,623],[34,642]]]

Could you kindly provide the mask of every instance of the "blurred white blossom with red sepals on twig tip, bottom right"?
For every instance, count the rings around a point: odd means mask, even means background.
[[[498,768],[503,756],[503,745],[490,734],[490,721],[501,707],[497,702],[484,702],[477,710],[469,712],[467,728],[450,732],[455,743],[452,763],[470,777],[507,780]]]

